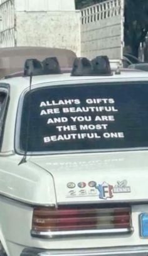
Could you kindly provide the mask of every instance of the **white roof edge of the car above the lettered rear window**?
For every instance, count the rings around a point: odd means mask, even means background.
[[[29,88],[29,77],[13,77],[9,79],[1,79],[1,84],[9,84],[11,89],[18,90],[20,93]],[[91,83],[91,82],[124,82],[124,81],[148,81],[148,73],[140,70],[121,70],[120,74],[107,76],[71,76],[71,74],[57,75],[36,75],[32,79],[32,87],[42,87],[63,84]]]

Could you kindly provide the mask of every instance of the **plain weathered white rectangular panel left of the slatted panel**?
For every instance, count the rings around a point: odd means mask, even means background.
[[[80,12],[17,12],[16,42],[17,46],[67,48],[80,56]]]

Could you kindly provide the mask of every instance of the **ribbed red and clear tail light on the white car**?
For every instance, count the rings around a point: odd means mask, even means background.
[[[112,233],[132,230],[130,208],[36,208],[33,211],[32,235]],[[106,231],[106,232],[105,232]]]

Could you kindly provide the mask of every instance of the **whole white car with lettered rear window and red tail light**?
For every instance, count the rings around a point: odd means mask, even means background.
[[[0,81],[0,256],[147,255],[147,72],[32,64]]]

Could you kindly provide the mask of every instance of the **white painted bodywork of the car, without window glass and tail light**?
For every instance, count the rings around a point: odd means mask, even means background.
[[[148,75],[146,72],[132,70],[123,70],[121,74],[109,77],[45,75],[33,77],[31,89],[120,81],[146,81],[148,86]],[[0,153],[0,240],[4,241],[3,246],[8,256],[19,256],[25,248],[56,249],[62,253],[63,250],[147,245],[147,239],[140,237],[139,215],[148,213],[148,149],[52,155],[20,154],[16,152],[15,145],[15,137],[18,136],[16,124],[20,120],[24,94],[29,90],[29,77],[1,80],[0,89],[3,84],[9,84],[10,91]],[[97,186],[106,182],[117,190],[109,197],[102,198],[99,189],[88,185],[90,181],[95,181]],[[75,184],[74,192],[70,192],[70,182]],[[86,189],[81,187],[80,182],[86,183]],[[91,189],[95,194],[90,196]],[[82,193],[82,190],[86,191]],[[58,209],[63,205],[75,204],[82,208],[86,204],[101,207],[110,207],[111,204],[118,207],[130,205],[134,230],[125,235],[81,235],[72,238],[31,236],[34,208],[42,206]]]

